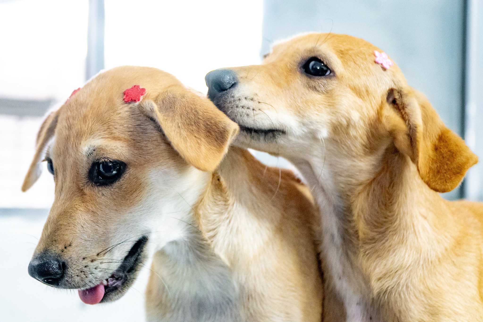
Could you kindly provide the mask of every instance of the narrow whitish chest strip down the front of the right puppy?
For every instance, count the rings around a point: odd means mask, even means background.
[[[341,208],[337,196],[330,186],[329,169],[324,169],[324,178],[319,182],[316,178],[322,169],[314,169],[306,162],[294,162],[302,174],[313,187],[313,196],[321,209],[322,242],[321,261],[326,279],[326,307],[331,307],[327,301],[331,296],[338,297],[345,311],[345,319],[342,316],[331,318],[336,321],[347,322],[382,322],[384,321],[378,310],[370,303],[370,290],[364,283],[362,272],[354,265],[350,247],[354,244],[348,234],[348,218]],[[340,308],[331,310],[341,312]],[[336,313],[337,315],[337,313]]]

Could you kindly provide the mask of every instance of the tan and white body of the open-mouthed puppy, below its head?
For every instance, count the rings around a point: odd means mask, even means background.
[[[272,204],[271,198],[287,193],[282,179],[275,195],[281,174],[267,170],[272,172],[264,180],[273,191],[244,179],[252,159],[248,152],[229,153],[230,163],[213,174],[193,206],[188,233],[155,254],[146,291],[148,321],[320,321],[322,283],[310,227],[292,205],[280,210],[277,200]],[[262,178],[265,166],[255,166],[256,178]]]

